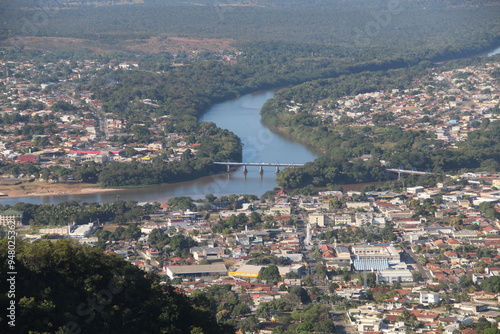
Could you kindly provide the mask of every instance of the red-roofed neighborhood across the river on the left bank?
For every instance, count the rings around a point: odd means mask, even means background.
[[[236,57],[222,51],[214,54],[221,62]],[[171,66],[184,66],[179,59],[189,62],[196,56],[197,53],[185,57],[174,55]],[[41,169],[74,169],[85,162],[151,163],[155,159],[170,162],[180,160],[186,151],[188,156],[195,154],[199,143],[187,132],[175,132],[170,115],[158,112],[158,117],[137,122],[123,113],[106,112],[102,101],[90,90],[82,90],[98,74],[132,70],[151,71],[143,70],[137,61],[116,59],[1,61],[0,162],[32,164]],[[117,83],[110,81],[106,86]],[[153,97],[134,103],[152,113],[161,108]],[[67,173],[53,170],[42,175],[20,175],[15,171],[1,175],[0,180],[72,181]]]

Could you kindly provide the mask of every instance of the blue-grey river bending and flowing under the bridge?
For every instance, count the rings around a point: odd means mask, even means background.
[[[312,149],[284,138],[269,130],[261,122],[260,110],[273,92],[265,91],[243,95],[240,98],[215,104],[200,119],[214,122],[217,126],[234,132],[243,142],[244,162],[305,163],[319,156]],[[138,202],[166,202],[174,196],[204,198],[212,193],[217,197],[230,194],[253,194],[260,196],[276,186],[273,167],[264,167],[259,174],[258,167],[248,167],[244,176],[241,169],[204,177],[194,181],[166,184],[148,188],[120,190],[117,192],[33,196],[0,199],[0,204],[14,205],[18,202],[33,204],[55,204],[68,200],[82,202],[111,202],[117,199]]]

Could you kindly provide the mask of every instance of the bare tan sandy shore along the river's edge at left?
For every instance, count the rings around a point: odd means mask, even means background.
[[[0,198],[93,194],[117,190],[119,189],[99,188],[90,183],[63,184],[34,181],[23,182],[19,185],[0,185]]]

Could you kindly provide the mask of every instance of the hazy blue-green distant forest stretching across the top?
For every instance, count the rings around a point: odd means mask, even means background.
[[[239,6],[225,0],[209,2],[96,7],[76,2],[48,10],[18,8],[7,1],[0,13],[0,39],[51,36],[116,44],[163,35],[338,45],[355,55],[368,48],[374,49],[370,56],[380,56],[381,51],[425,56],[428,49],[489,47],[500,31],[500,6],[491,1],[266,1],[280,4],[270,7],[259,1]]]

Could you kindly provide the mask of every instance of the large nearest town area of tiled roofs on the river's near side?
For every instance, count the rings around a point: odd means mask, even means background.
[[[105,241],[100,231],[130,225],[103,222],[80,232],[25,227],[23,235],[102,247],[187,295],[227,288],[249,310],[220,316],[256,318],[249,333],[300,324],[286,310],[314,305],[328,306],[329,321],[345,333],[474,333],[472,323],[500,316],[500,293],[491,288],[500,279],[498,174],[401,191],[279,191],[243,202],[236,209],[200,202],[199,211],[161,204],[134,237]],[[278,276],[264,279],[271,267]],[[288,308],[273,311],[278,301]]]

